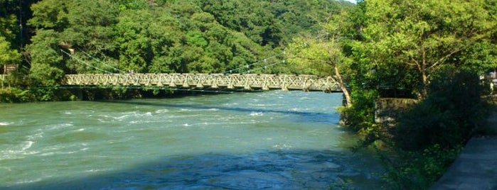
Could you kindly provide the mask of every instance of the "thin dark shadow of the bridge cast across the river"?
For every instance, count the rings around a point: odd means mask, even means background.
[[[199,109],[199,110],[210,110],[218,109],[221,111],[237,111],[246,113],[282,113],[288,115],[301,116],[305,120],[296,119],[296,121],[314,122],[314,123],[335,123],[339,121],[339,115],[337,113],[318,113],[309,111],[284,111],[276,109],[267,108],[240,108],[240,107],[226,107],[226,106],[206,106],[206,105],[194,105],[194,104],[167,104],[167,103],[157,103],[157,102],[144,102],[144,101],[102,101],[106,103],[113,104],[130,104],[139,106],[159,106],[159,107],[170,107],[170,108],[186,108],[186,109]]]

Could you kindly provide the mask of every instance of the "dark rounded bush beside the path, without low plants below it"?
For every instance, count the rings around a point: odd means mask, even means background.
[[[483,86],[470,69],[441,69],[428,87],[427,98],[401,114],[390,131],[402,150],[464,144],[488,116],[488,106],[481,99]]]

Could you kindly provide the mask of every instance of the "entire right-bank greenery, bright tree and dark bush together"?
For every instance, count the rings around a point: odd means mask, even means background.
[[[427,189],[488,116],[479,76],[497,67],[497,1],[360,2],[343,43],[353,106],[345,123],[380,151],[392,189]],[[350,48],[350,49],[349,49]],[[375,99],[419,104],[395,125],[375,123]],[[391,123],[390,123],[391,124]],[[380,142],[380,143],[378,143]],[[386,155],[385,155],[386,154]]]

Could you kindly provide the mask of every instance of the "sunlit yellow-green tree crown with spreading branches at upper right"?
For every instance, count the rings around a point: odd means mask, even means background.
[[[469,65],[461,59],[461,54],[474,57],[471,52],[476,52],[471,49],[477,44],[488,44],[496,33],[495,1],[375,0],[363,3],[367,17],[363,29],[365,43],[356,49],[368,55],[370,68],[383,77],[378,80],[380,84],[391,83],[389,79],[397,79],[395,83],[399,83],[410,78],[412,72],[408,71],[414,70],[417,79],[408,83],[417,82],[415,86],[421,86],[414,89],[420,97],[427,94],[432,73],[443,65]]]

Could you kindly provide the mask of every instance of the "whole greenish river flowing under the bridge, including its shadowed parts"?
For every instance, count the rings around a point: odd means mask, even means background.
[[[342,94],[0,104],[0,189],[380,189]]]

